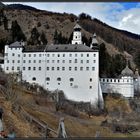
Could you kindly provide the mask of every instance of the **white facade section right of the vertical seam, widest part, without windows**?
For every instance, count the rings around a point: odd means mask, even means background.
[[[52,54],[55,57],[52,57]],[[60,57],[58,57],[58,54]],[[65,54],[65,57],[63,57]],[[72,55],[70,57],[70,54]],[[77,54],[77,56],[75,56]],[[83,57],[81,57],[83,54]],[[89,57],[87,57],[89,54]],[[94,56],[94,54],[96,56]],[[98,99],[98,52],[60,52],[60,53],[50,53],[50,57],[47,58],[50,60],[50,63],[46,64],[46,67],[54,67],[54,71],[46,71],[45,77],[50,77],[50,81],[46,81],[46,88],[50,90],[60,89],[63,90],[66,96],[69,99],[76,101],[95,101]],[[75,63],[77,59],[77,63]],[[54,63],[52,61],[55,60]],[[60,62],[58,63],[57,60]],[[65,63],[62,61],[65,60]],[[69,63],[69,60],[72,63]],[[83,63],[81,63],[83,60]],[[86,61],[89,60],[89,63]],[[94,63],[96,60],[96,63]],[[60,70],[56,70],[57,67],[60,67]],[[62,67],[65,67],[65,70],[62,71]],[[69,71],[69,67],[72,68]],[[77,71],[74,70],[74,67],[77,67]],[[80,67],[83,67],[83,71],[80,71]],[[86,70],[86,67],[89,67],[89,71]],[[95,67],[95,70],[92,71],[92,67]],[[61,81],[57,81],[57,78],[60,77]],[[70,78],[74,78],[73,82],[70,82]],[[92,78],[92,82],[90,82]],[[48,84],[47,84],[48,83]],[[60,85],[59,85],[60,83]],[[70,85],[73,84],[73,86]],[[90,86],[92,88],[90,89]]]

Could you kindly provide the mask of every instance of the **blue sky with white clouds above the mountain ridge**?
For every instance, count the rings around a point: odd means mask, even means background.
[[[13,2],[12,2],[13,3]],[[17,2],[16,2],[17,3]],[[19,2],[38,9],[79,15],[84,12],[118,29],[140,34],[140,2]],[[4,4],[11,4],[10,2]]]

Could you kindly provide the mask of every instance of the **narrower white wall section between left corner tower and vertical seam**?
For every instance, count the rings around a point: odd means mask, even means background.
[[[39,85],[44,87],[45,57],[46,56],[44,52],[23,53],[22,79],[30,83],[38,83]],[[34,60],[36,62],[34,62]],[[25,67],[25,70],[24,70],[24,67]],[[31,68],[31,70],[28,69],[29,67]],[[34,70],[34,67],[35,67],[35,70]],[[39,67],[41,67],[41,70],[39,70]],[[33,80],[33,77],[36,78],[35,81]]]

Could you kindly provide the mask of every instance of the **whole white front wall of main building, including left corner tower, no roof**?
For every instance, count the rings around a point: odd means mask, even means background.
[[[22,79],[27,82],[38,83],[49,90],[63,90],[68,99],[71,100],[91,101],[92,103],[98,101],[99,52],[22,53],[22,48],[12,48],[11,50],[8,46],[5,51],[5,53],[8,53],[8,56],[4,58],[4,69],[7,73],[17,72],[16,68],[19,66],[20,70],[22,70]],[[15,53],[15,55],[12,56],[12,53]],[[19,54],[20,57],[18,56]],[[77,59],[77,63],[75,63],[75,59]],[[7,60],[9,60],[9,63],[7,63]],[[15,63],[12,63],[12,60]],[[17,63],[18,60],[20,60],[20,63]],[[34,63],[34,60],[36,63]],[[39,63],[39,60],[41,60],[41,63]],[[71,63],[69,60],[71,60]],[[83,63],[81,63],[81,60]],[[24,61],[26,62],[24,63]],[[14,66],[14,70],[12,70],[12,66]],[[9,67],[9,70],[6,70],[6,67]],[[23,70],[24,67],[25,70]],[[31,67],[31,70],[28,70],[28,67]],[[33,67],[36,70],[33,70]],[[39,67],[41,67],[41,70],[39,70]],[[47,67],[50,70],[47,70]],[[52,67],[54,67],[54,71],[51,69]],[[57,70],[57,67],[59,67],[59,70]],[[64,71],[62,67],[65,67]],[[71,71],[69,67],[71,67]],[[77,67],[77,70],[75,70],[75,67]],[[83,70],[80,70],[80,67],[83,67]],[[89,70],[86,70],[86,67],[89,67]],[[92,67],[95,69],[92,70]],[[36,78],[35,81],[33,77]],[[50,81],[46,81],[46,77],[49,77]],[[57,81],[58,77],[61,78],[61,81]],[[71,82],[70,78],[74,78],[74,81]],[[90,81],[90,78],[92,81]]]

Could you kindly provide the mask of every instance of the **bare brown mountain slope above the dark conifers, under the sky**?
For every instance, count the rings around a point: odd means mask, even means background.
[[[1,16],[2,15],[3,14],[1,14]],[[42,11],[33,7],[16,4],[8,5],[7,8],[5,8],[4,17],[7,19],[8,27],[12,27],[13,21],[17,21],[28,43],[31,40],[33,29],[36,28],[39,42],[41,38],[40,35],[44,33],[48,44],[55,42],[54,35],[56,31],[60,33],[62,37],[65,37],[67,40],[65,43],[70,43],[73,27],[76,24],[77,18],[79,18],[79,24],[82,27],[82,35],[85,40],[84,43],[89,45],[92,34],[95,32],[99,43],[105,44],[111,56],[121,54],[125,57],[129,57],[132,67],[135,68],[133,59],[136,56],[136,52],[140,52],[140,36],[110,27],[98,19],[92,19],[90,16],[84,17],[80,15],[77,17],[73,14]],[[5,32],[3,34],[5,36],[5,42],[6,40],[12,40],[11,31],[5,30],[4,24],[0,24],[0,30]],[[15,30],[13,30],[13,32],[15,32]],[[37,44],[38,42],[35,43],[35,45]],[[137,63],[137,65],[140,67],[140,64]]]

